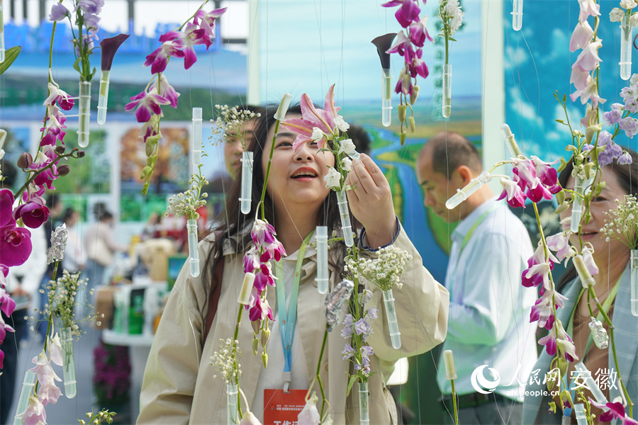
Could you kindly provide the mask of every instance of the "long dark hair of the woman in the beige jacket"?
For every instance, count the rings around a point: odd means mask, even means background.
[[[215,234],[215,242],[213,249],[208,252],[206,256],[206,262],[204,263],[204,270],[201,278],[206,294],[208,291],[215,292],[221,282],[218,282],[215,276],[215,270],[220,261],[223,261],[223,244],[226,239],[230,241],[233,249],[236,253],[241,253],[250,248],[252,244],[252,238],[250,237],[250,229],[254,222],[254,217],[257,213],[257,207],[259,200],[262,198],[262,188],[264,187],[264,174],[265,170],[262,166],[262,157],[264,156],[264,146],[271,142],[268,140],[268,132],[275,125],[276,119],[274,113],[276,112],[276,106],[268,105],[262,108],[260,111],[261,116],[254,118],[257,120],[254,126],[254,138],[252,143],[248,146],[248,151],[253,152],[253,165],[252,165],[252,193],[251,193],[251,210],[248,214],[242,214],[240,210],[240,193],[241,193],[241,180],[237,179],[233,186],[231,186],[228,195],[225,197],[225,210],[223,210],[218,217],[216,217],[213,229],[211,233]],[[301,115],[301,106],[291,106],[288,113],[297,113]],[[280,128],[281,129],[281,128]],[[271,173],[274,171],[270,170]],[[264,198],[264,212],[266,220],[274,225],[274,207],[272,199],[268,192]],[[317,225],[328,226],[328,234],[332,234],[332,231],[340,227],[339,209],[337,207],[337,194],[335,191],[330,191],[325,198],[323,205],[320,209]],[[332,249],[330,251],[333,251]],[[334,251],[345,253],[345,249],[340,247]],[[345,255],[345,254],[344,254]],[[342,268],[342,257],[344,255],[332,256],[331,260],[335,261],[339,267]],[[208,298],[208,297],[207,297]],[[203,312],[206,312],[205,310]]]

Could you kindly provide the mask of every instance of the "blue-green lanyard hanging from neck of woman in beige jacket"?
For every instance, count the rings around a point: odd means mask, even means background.
[[[284,348],[284,372],[291,371],[292,365],[292,344],[295,337],[295,327],[297,324],[297,298],[299,295],[299,281],[301,280],[301,264],[303,256],[306,254],[306,245],[310,241],[313,232],[310,232],[306,239],[303,239],[297,251],[297,264],[295,267],[295,278],[293,280],[292,293],[290,295],[290,307],[286,312],[286,292],[284,290],[284,272],[281,261],[276,263],[275,276],[279,280],[276,285],[277,291],[277,312],[279,313],[279,328],[281,330],[281,348]]]

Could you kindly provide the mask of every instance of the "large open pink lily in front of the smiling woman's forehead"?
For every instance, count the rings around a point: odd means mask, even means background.
[[[339,135],[339,128],[337,127],[337,112],[341,109],[335,106],[335,84],[330,86],[328,94],[325,95],[325,109],[316,109],[313,105],[313,101],[307,94],[301,95],[301,117],[302,118],[289,118],[281,121],[281,125],[294,132],[298,133],[295,141],[293,142],[293,149],[296,150],[303,143],[309,142],[313,139],[313,132],[315,128],[318,128],[325,134],[325,138],[318,141],[318,145],[322,148],[327,140],[333,140]]]

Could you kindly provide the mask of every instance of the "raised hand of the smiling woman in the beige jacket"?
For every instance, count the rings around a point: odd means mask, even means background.
[[[366,228],[367,244],[376,249],[392,242],[396,233],[396,216],[388,179],[379,166],[366,155],[352,162],[346,183],[348,203],[354,217]]]

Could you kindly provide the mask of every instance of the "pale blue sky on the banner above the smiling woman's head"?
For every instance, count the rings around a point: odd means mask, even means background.
[[[287,91],[294,99],[308,93],[315,103],[323,104],[328,87],[335,83],[337,105],[380,101],[381,64],[371,40],[401,30],[394,17],[397,7],[383,8],[382,3],[378,0],[260,3],[262,101],[278,102]],[[438,6],[438,1],[429,1],[425,6],[430,17],[427,29],[432,38],[436,37],[434,15]],[[459,96],[480,96],[476,68],[463,67],[461,61],[480,63],[481,2],[463,1],[463,7],[466,19],[451,51],[451,61],[456,61],[453,90]],[[422,59],[429,67],[434,62],[434,52],[434,45],[426,42]],[[403,58],[393,56],[393,84],[396,84]],[[420,101],[427,101],[434,91],[434,79],[432,74],[425,80],[419,79]],[[393,98],[395,102],[398,103],[398,98]]]

